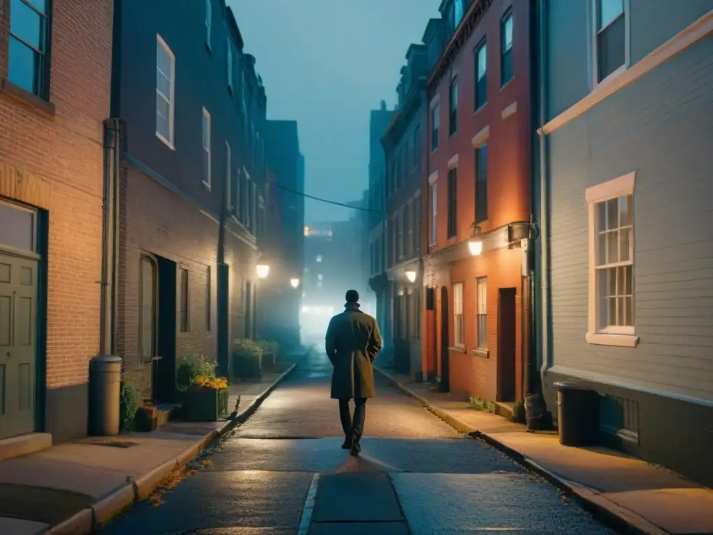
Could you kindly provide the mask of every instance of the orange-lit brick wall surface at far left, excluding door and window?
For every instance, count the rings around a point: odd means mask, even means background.
[[[14,189],[0,177],[0,195],[48,210],[47,385],[58,389],[86,382],[98,351],[113,2],[53,4],[50,101],[56,114],[0,93],[0,163],[23,173],[22,187]],[[7,73],[8,15],[9,1],[1,0],[0,76]]]

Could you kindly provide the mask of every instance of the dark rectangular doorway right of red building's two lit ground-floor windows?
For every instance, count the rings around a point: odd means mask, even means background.
[[[498,294],[498,401],[515,401],[515,288]]]

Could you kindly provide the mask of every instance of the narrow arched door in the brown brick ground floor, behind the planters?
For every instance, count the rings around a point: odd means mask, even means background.
[[[139,269],[139,351],[141,357],[141,397],[154,402],[154,362],[157,340],[158,270],[156,262],[142,255]]]

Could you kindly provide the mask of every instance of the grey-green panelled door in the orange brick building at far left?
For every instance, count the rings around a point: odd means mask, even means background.
[[[0,439],[35,431],[38,267],[0,253]]]

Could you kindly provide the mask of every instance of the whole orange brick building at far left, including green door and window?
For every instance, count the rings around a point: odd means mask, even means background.
[[[61,442],[99,350],[112,2],[40,4],[0,3],[0,440]]]

